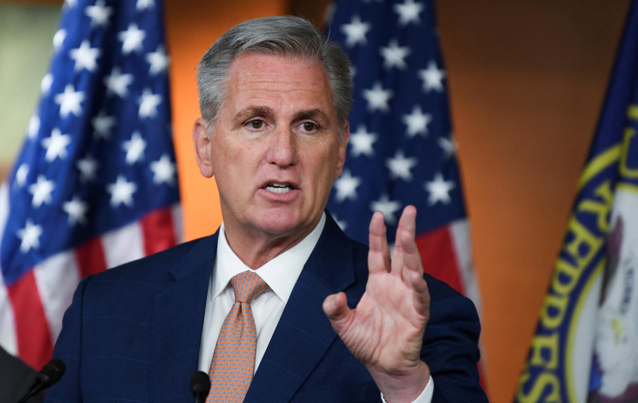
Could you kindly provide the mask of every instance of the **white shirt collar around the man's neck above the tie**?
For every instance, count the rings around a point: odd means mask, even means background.
[[[224,231],[224,223],[219,226],[219,236],[217,238],[217,253],[213,264],[213,275],[211,284],[211,300],[216,298],[223,291],[230,279],[235,274],[242,272],[256,272],[263,281],[274,291],[284,304],[288,302],[290,293],[297,282],[297,278],[301,274],[306,261],[310,257],[315,245],[321,236],[323,226],[325,224],[325,212],[323,212],[319,223],[299,244],[294,245],[276,258],[268,261],[265,265],[253,270],[246,266],[244,262],[230,249],[226,234]]]

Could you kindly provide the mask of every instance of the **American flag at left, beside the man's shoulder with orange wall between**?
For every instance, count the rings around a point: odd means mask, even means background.
[[[82,277],[179,235],[160,0],[66,0],[24,145],[0,189],[0,344],[50,359]]]

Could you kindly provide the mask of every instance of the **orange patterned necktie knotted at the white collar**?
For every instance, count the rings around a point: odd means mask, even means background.
[[[235,304],[228,312],[212,355],[211,392],[206,403],[241,403],[255,372],[257,331],[250,303],[268,284],[255,272],[242,272],[230,279]]]

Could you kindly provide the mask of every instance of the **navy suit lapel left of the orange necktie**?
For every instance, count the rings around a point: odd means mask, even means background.
[[[187,401],[197,370],[217,235],[202,238],[168,270],[151,313],[151,401]]]

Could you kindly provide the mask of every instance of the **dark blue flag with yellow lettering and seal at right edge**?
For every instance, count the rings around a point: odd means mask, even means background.
[[[638,402],[638,3],[515,402]]]

